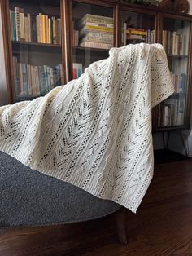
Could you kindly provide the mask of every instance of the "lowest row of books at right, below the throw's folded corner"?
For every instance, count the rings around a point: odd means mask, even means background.
[[[182,126],[185,115],[185,98],[166,99],[164,104],[159,104],[159,127]]]

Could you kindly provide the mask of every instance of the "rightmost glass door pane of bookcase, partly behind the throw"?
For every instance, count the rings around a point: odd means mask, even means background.
[[[159,105],[159,127],[185,125],[190,22],[164,19],[163,45],[175,93]]]

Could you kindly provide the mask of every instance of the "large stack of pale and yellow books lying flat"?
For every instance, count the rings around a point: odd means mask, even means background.
[[[86,14],[79,21],[80,46],[110,49],[113,46],[113,19]]]

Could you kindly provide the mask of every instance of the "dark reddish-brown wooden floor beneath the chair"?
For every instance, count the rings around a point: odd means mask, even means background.
[[[1,231],[1,256],[192,255],[192,161],[155,166],[137,214],[126,211],[129,245],[114,216],[76,225]]]

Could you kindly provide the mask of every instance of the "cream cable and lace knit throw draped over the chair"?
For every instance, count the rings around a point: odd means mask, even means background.
[[[0,150],[136,212],[153,175],[151,108],[174,92],[163,46],[112,48],[79,79],[0,108]]]

